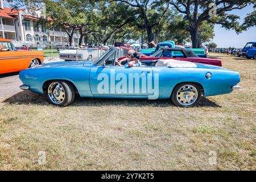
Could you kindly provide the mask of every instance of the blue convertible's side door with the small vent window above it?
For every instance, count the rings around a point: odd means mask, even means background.
[[[105,64],[94,65],[90,69],[89,82],[93,96],[147,98],[151,91],[152,68],[115,66],[117,51],[105,60]]]

